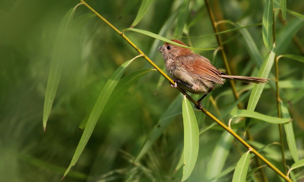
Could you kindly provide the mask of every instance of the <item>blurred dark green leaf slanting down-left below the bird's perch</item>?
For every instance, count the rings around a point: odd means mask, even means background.
[[[158,123],[153,127],[151,133],[147,137],[146,141],[143,144],[143,147],[140,150],[140,153],[134,159],[135,162],[138,162],[145,153],[150,149],[153,143],[157,140],[164,130],[174,121],[175,116],[181,114],[181,103],[183,100],[183,95],[179,94],[174,101],[168,106],[167,110],[159,119]]]

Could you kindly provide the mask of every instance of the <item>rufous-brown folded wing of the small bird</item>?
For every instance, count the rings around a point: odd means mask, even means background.
[[[204,56],[187,56],[187,62],[181,62],[185,70],[197,78],[210,80],[215,83],[224,84],[221,79],[221,71],[214,67],[209,59]],[[185,59],[185,58],[184,58]]]

